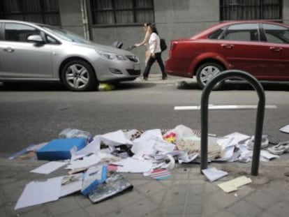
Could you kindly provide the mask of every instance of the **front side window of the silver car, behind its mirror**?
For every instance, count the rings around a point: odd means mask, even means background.
[[[28,36],[39,35],[40,31],[25,24],[6,23],[5,40],[27,42]]]

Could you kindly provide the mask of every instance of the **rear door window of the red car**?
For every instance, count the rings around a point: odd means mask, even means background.
[[[258,41],[258,24],[234,24],[225,29],[223,40]]]

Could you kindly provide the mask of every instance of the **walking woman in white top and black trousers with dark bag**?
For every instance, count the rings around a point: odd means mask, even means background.
[[[156,27],[152,24],[149,24],[147,31],[151,34],[149,36],[149,41],[147,42],[147,48],[149,50],[149,59],[147,60],[147,65],[144,69],[143,79],[147,80],[149,77],[149,71],[154,61],[158,61],[158,66],[161,68],[162,79],[168,79],[168,75],[165,73],[165,66],[163,65],[163,59],[161,59],[161,46],[160,46],[160,37],[158,36],[158,31]]]

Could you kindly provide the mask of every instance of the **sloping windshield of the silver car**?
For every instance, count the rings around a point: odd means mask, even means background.
[[[50,33],[53,33],[54,35],[58,36],[59,38],[63,40],[73,41],[76,43],[84,43],[84,44],[90,43],[89,40],[86,40],[85,38],[82,38],[81,36],[78,36],[75,33],[66,31],[64,29],[59,29],[57,27],[51,27],[51,26],[46,26],[46,25],[43,25],[43,26],[41,25],[40,27],[42,27],[46,31],[49,31]]]

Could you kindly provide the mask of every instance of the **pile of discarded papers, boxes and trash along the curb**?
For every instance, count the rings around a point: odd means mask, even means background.
[[[209,135],[208,161],[248,163],[252,160],[253,145],[254,137],[242,133]],[[264,150],[268,146],[267,135],[262,135],[262,161],[279,158],[289,151],[289,142]],[[95,203],[133,188],[121,176],[122,172],[142,173],[144,177],[162,180],[170,177],[176,163],[199,163],[200,131],[179,125],[173,129],[117,130],[93,137],[87,131],[66,128],[57,139],[31,145],[10,157],[26,158],[50,161],[31,172],[49,174],[65,165],[68,175],[31,181],[15,209],[58,200],[79,191]],[[203,173],[209,181],[228,174],[215,168]],[[35,199],[31,197],[33,193],[42,196]]]

